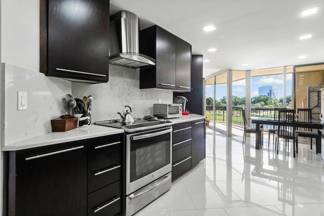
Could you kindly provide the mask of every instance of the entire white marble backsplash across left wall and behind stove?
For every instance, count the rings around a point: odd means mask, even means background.
[[[133,117],[153,114],[153,104],[172,103],[173,93],[161,90],[140,90],[139,69],[109,66],[107,83],[71,82],[45,76],[38,71],[12,64],[2,65],[3,145],[10,145],[52,132],[51,119],[66,114],[62,100],[67,94],[75,98],[92,95],[92,122],[117,119],[125,105],[133,109]],[[27,110],[17,110],[17,92],[27,92]]]

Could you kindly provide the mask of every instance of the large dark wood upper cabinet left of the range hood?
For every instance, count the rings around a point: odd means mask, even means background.
[[[107,82],[109,0],[41,0],[40,70],[71,81]]]

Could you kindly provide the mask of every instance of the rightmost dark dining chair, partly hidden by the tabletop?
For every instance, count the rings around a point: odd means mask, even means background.
[[[312,119],[312,109],[297,108],[298,121],[310,123]],[[317,132],[313,132],[311,128],[298,127],[295,131],[299,137],[310,138],[310,149],[313,149],[312,138],[316,139],[316,145],[319,145],[320,136]],[[296,142],[296,152],[298,153],[298,140]]]

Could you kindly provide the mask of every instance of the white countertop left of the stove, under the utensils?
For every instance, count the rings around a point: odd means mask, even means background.
[[[124,133],[124,129],[91,124],[89,127],[77,127],[67,132],[52,132],[7,146],[2,146],[2,151],[18,151],[22,149],[48,146],[121,133]]]

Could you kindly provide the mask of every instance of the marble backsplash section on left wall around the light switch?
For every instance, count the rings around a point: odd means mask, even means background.
[[[62,98],[71,93],[71,82],[8,63],[3,63],[2,75],[4,144],[52,132],[51,119],[66,112]],[[17,110],[18,91],[28,94],[27,110]]]

